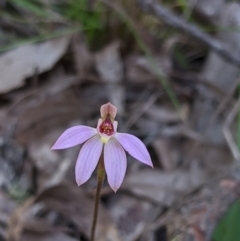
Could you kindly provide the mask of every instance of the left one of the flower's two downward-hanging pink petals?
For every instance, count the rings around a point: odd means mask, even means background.
[[[86,182],[97,166],[102,153],[103,143],[99,135],[88,140],[78,155],[75,175],[78,186]]]

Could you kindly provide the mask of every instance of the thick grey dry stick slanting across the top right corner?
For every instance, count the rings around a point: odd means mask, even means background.
[[[154,16],[161,19],[169,26],[181,30],[187,35],[190,35],[196,39],[199,39],[220,56],[240,67],[239,55],[233,53],[221,41],[202,32],[197,26],[188,23],[181,16],[177,16],[172,11],[165,8],[160,2],[156,2],[155,0],[137,0],[137,2],[144,11],[152,13]]]

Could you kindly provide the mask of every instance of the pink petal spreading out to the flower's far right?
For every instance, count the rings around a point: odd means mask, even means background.
[[[147,148],[136,136],[125,133],[116,133],[114,137],[131,156],[140,162],[153,167]]]

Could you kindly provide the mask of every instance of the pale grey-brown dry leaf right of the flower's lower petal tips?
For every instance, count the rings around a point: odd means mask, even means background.
[[[122,187],[140,197],[170,206],[204,183],[203,171],[194,164],[188,172],[176,170],[166,173],[158,170],[142,170],[131,173],[125,178]]]

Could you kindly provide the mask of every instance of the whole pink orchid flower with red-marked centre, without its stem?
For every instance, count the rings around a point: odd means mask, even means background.
[[[126,173],[125,151],[144,164],[151,167],[153,164],[147,148],[137,137],[117,132],[118,123],[114,121],[117,108],[114,105],[102,105],[100,113],[97,128],[83,125],[71,127],[58,138],[52,150],[65,149],[85,142],[75,167],[76,182],[79,186],[90,178],[103,151],[108,183],[116,192]]]

